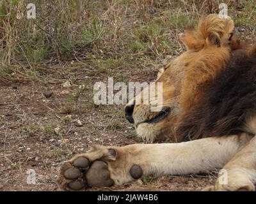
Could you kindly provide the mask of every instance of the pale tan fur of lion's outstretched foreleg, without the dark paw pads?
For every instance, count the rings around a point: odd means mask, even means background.
[[[58,184],[68,190],[70,180],[63,176],[77,157],[86,157],[90,162],[105,161],[110,178],[115,185],[132,182],[129,173],[132,165],[139,165],[143,176],[186,175],[203,173],[221,168],[232,156],[250,141],[248,135],[204,138],[182,143],[135,144],[125,147],[96,146],[88,153],[79,154],[62,164]],[[108,156],[108,150],[115,149],[116,156]]]

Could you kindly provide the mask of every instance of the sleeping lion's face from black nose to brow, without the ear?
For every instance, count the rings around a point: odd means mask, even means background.
[[[189,53],[189,54],[188,54]],[[173,124],[177,116],[180,114],[179,95],[181,89],[181,80],[183,78],[186,67],[189,63],[189,55],[195,55],[191,52],[186,52],[172,62],[165,68],[159,70],[157,80],[154,82],[155,98],[149,97],[148,105],[141,103],[140,105],[133,105],[136,99],[143,99],[144,92],[148,93],[148,89],[144,89],[136,96],[136,98],[129,101],[125,106],[125,117],[129,122],[134,123],[136,133],[138,136],[152,142],[154,139],[161,137],[172,138]],[[153,107],[157,107],[157,83],[161,82],[163,85],[163,105],[161,111],[152,111]],[[154,89],[153,89],[154,90]],[[143,100],[141,100],[143,101]]]

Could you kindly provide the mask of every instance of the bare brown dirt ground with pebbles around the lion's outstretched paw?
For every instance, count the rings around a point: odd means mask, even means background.
[[[90,91],[77,100],[76,110],[64,113],[70,94],[77,89],[79,82],[72,87],[20,80],[1,83],[1,191],[58,191],[61,161],[88,150],[92,143],[122,146],[140,142],[125,121],[122,107],[90,107]],[[45,91],[52,91],[52,96],[45,98]],[[63,119],[67,115],[68,121]],[[35,170],[36,184],[27,183],[28,170]],[[199,191],[214,179],[216,174],[144,178],[125,186],[88,190]]]

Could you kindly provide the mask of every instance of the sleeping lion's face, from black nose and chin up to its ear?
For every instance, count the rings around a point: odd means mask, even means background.
[[[159,138],[159,136],[171,138],[175,141],[174,124],[182,113],[179,99],[186,70],[190,69],[191,64],[195,66],[198,59],[204,59],[204,53],[207,53],[209,57],[211,48],[214,50],[214,55],[216,55],[215,52],[218,52],[218,49],[226,49],[229,53],[233,29],[234,23],[232,20],[223,20],[216,15],[209,15],[200,23],[196,31],[184,34],[182,41],[188,50],[173,59],[165,68],[159,70],[157,80],[154,82],[155,98],[150,96],[149,104],[136,105],[135,103],[134,105],[136,99],[143,99],[144,92],[148,92],[148,89],[145,89],[125,106],[125,117],[129,122],[134,123],[138,136],[150,142]],[[191,36],[189,36],[189,33],[191,33]],[[189,41],[191,38],[194,41]],[[163,106],[160,111],[153,112],[152,107],[157,106],[154,102],[158,97],[158,82],[163,83]]]

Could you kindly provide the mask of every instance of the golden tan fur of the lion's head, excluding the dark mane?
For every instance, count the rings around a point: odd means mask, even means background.
[[[148,142],[157,138],[169,138],[176,142],[176,122],[189,112],[207,91],[209,83],[224,69],[230,52],[241,48],[242,44],[230,38],[234,22],[209,15],[193,31],[180,34],[180,40],[187,50],[160,69],[157,82],[163,82],[163,106],[169,106],[171,113],[165,119],[148,124],[144,120],[153,119],[157,112],[151,112],[150,105],[135,105],[132,117],[137,134]],[[231,40],[232,39],[232,40]],[[142,98],[143,91],[136,98]],[[133,100],[129,104],[132,104]]]

